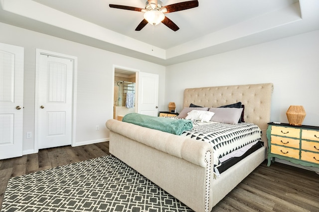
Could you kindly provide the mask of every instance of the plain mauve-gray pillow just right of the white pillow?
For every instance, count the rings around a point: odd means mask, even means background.
[[[236,125],[243,108],[219,107],[209,108],[209,111],[215,113],[210,121]]]

